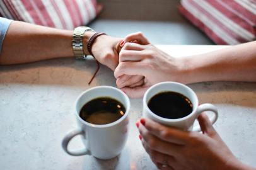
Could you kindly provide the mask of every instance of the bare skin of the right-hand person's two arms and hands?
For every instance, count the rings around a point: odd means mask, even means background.
[[[175,59],[151,45],[140,32],[124,41],[114,74],[117,86],[131,97],[143,96],[161,81],[256,81],[256,42]],[[124,74],[144,76],[143,85],[129,87],[132,82],[122,82],[120,77]],[[198,120],[202,133],[184,132],[147,118],[136,123],[143,147],[159,169],[254,169],[236,159],[204,113]]]

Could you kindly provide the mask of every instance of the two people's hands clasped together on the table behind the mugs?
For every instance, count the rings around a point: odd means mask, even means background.
[[[182,62],[149,43],[141,32],[124,40],[98,37],[92,52],[96,60],[114,72],[117,87],[131,98],[142,97],[145,91],[161,81],[179,81]]]

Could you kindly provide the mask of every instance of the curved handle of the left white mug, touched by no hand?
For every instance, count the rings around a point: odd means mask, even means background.
[[[67,135],[62,140],[62,148],[67,152],[67,154],[71,156],[83,156],[90,154],[90,151],[84,147],[84,149],[79,150],[69,150],[67,145],[69,144],[70,140],[73,139],[76,135],[84,135],[84,130],[81,128],[72,130],[71,132],[67,133]]]

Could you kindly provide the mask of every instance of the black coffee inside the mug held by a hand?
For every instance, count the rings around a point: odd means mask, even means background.
[[[148,102],[149,109],[163,118],[183,118],[189,115],[193,106],[183,94],[173,91],[164,91],[154,95]]]

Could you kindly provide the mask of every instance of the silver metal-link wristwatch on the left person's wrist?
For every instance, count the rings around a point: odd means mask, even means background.
[[[86,55],[83,51],[83,37],[86,31],[93,31],[93,29],[87,26],[78,26],[74,29],[72,46],[74,57],[78,60],[86,59]]]

